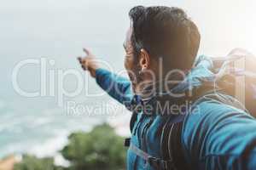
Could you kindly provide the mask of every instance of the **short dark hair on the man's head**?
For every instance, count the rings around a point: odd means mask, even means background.
[[[131,8],[129,15],[135,55],[145,48],[154,59],[162,57],[169,69],[192,67],[200,44],[200,33],[183,9],[137,6]]]

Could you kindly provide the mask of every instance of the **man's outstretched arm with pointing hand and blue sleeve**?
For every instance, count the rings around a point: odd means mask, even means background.
[[[119,77],[110,71],[102,69],[96,57],[84,48],[85,57],[79,57],[79,62],[84,71],[89,71],[91,77],[96,78],[97,84],[111,97],[121,104],[130,102],[132,98],[131,82],[125,77]]]

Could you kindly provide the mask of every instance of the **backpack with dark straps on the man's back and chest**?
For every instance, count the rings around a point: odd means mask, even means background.
[[[256,116],[256,58],[247,51],[236,48],[226,57],[212,58],[213,72],[216,73],[216,84],[211,88],[197,89],[190,100],[195,103],[203,97],[214,98],[226,105],[233,105],[247,113]],[[217,85],[217,86],[216,86]],[[232,96],[233,98],[230,99]],[[185,99],[188,99],[186,97]],[[161,130],[160,150],[161,158],[148,155],[143,150],[130,143],[131,139],[125,139],[125,146],[148,161],[151,167],[160,170],[183,170],[189,169],[186,165],[182,146],[182,128],[183,117],[177,118],[177,121],[171,123],[171,116],[166,121]],[[133,129],[137,121],[137,112],[134,111],[131,116],[130,129]]]

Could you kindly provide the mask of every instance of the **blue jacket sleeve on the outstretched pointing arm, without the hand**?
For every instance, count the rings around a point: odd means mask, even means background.
[[[113,99],[125,105],[132,99],[131,82],[125,77],[119,77],[105,69],[96,70],[96,82]]]

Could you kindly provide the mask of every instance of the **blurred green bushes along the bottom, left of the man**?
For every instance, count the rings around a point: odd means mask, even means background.
[[[77,132],[68,136],[68,144],[61,155],[70,162],[70,167],[56,167],[51,157],[23,156],[15,170],[110,170],[125,169],[125,147],[108,124],[93,128],[90,133]]]

